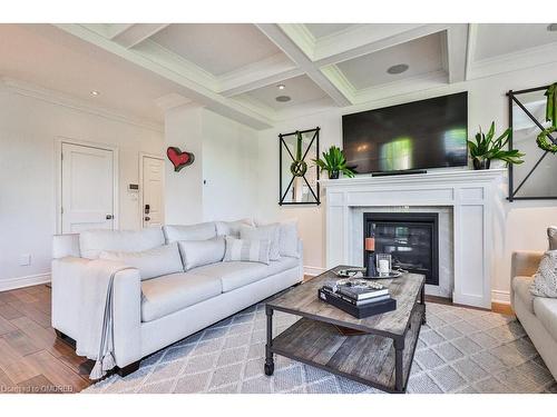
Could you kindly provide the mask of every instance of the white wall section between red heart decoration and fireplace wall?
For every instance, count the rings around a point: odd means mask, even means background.
[[[165,141],[195,155],[195,162],[179,172],[166,163],[166,222],[254,217],[260,187],[255,130],[184,106],[167,112]]]

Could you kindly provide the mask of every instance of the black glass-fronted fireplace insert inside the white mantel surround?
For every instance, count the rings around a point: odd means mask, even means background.
[[[439,215],[437,212],[365,212],[364,237],[375,236],[375,252],[390,254],[393,266],[439,285]],[[364,256],[364,266],[368,257]]]

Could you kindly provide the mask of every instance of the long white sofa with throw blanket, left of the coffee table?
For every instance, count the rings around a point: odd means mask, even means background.
[[[87,241],[85,234],[55,236],[52,327],[61,337],[77,338],[80,281],[86,265],[101,250],[134,252],[178,239],[211,239],[226,232],[227,227],[226,222],[206,222],[141,231],[88,231]],[[301,282],[302,265],[302,241],[297,239],[297,257],[283,256],[270,265],[217,261],[146,280],[141,280],[138,269],[117,272],[114,280],[117,370],[127,375],[139,367],[141,358]]]

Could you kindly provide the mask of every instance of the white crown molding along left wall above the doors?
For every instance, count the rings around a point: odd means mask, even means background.
[[[164,125],[150,120],[141,119],[107,107],[91,105],[90,102],[66,95],[60,91],[50,90],[30,82],[16,80],[9,77],[0,78],[0,86],[20,96],[31,97],[52,105],[62,106],[72,110],[82,111],[89,115],[99,116],[106,119],[119,121],[127,125],[137,126],[143,129],[164,132]]]

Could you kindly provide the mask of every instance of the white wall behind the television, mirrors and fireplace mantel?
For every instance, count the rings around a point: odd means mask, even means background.
[[[510,89],[520,90],[555,82],[557,72],[554,64],[522,71],[508,72],[475,81],[448,85],[430,90],[392,97],[385,100],[354,106],[348,109],[334,109],[326,112],[305,116],[277,123],[273,129],[260,132],[260,217],[266,220],[297,218],[300,234],[304,240],[304,265],[306,271],[319,271],[325,266],[324,209],[323,207],[280,207],[278,195],[278,146],[277,135],[296,129],[321,127],[320,148],[331,145],[342,146],[341,116],[373,108],[381,108],[468,90],[469,136],[476,133],[478,126],[486,129],[491,120],[498,130],[508,126],[508,101],[505,96]],[[551,157],[551,156],[550,156]],[[557,158],[557,157],[554,157]],[[556,160],[557,163],[557,160]],[[547,247],[546,227],[557,224],[555,201],[515,201],[504,199],[501,190],[499,206],[500,225],[496,225],[496,272],[492,277],[494,296],[505,301],[509,289],[510,254],[517,249],[544,250]]]

